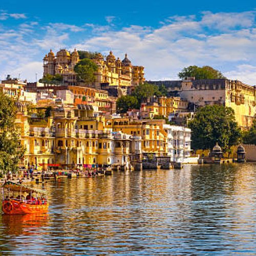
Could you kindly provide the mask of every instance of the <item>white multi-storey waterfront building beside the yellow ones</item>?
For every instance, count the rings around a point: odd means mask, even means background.
[[[191,151],[191,130],[177,125],[164,124],[167,133],[168,156],[173,162],[187,162]]]

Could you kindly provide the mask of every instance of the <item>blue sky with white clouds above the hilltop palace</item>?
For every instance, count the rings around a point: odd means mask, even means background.
[[[148,80],[209,65],[256,84],[253,1],[17,1],[0,3],[0,78],[30,81],[50,49],[112,50]]]

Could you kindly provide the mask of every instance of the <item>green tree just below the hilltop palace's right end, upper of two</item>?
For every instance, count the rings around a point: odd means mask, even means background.
[[[139,103],[141,103],[144,98],[153,97],[154,95],[162,96],[162,93],[158,90],[158,86],[155,86],[155,84],[145,82],[140,83],[135,87],[132,95],[137,98]]]

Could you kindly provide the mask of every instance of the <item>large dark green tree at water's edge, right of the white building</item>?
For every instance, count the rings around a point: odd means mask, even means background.
[[[216,142],[227,152],[238,144],[241,130],[235,121],[234,111],[222,105],[208,105],[200,108],[194,119],[188,123],[192,130],[192,148],[212,149]]]

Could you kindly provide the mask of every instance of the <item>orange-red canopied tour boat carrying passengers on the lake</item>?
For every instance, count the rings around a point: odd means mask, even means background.
[[[2,188],[4,194],[2,211],[4,214],[44,214],[48,211],[49,204],[45,190],[27,187],[12,181],[6,181]],[[25,193],[28,194],[26,197]],[[16,198],[14,198],[15,194],[18,194]],[[35,194],[36,198],[32,194]]]

